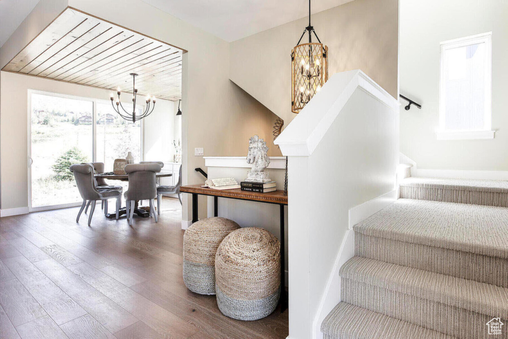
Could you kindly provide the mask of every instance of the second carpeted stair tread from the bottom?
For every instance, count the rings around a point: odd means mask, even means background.
[[[340,276],[474,313],[508,319],[508,289],[383,261],[353,257]]]

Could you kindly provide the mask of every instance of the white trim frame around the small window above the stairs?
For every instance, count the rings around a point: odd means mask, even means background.
[[[446,130],[446,93],[445,93],[445,51],[453,48],[485,43],[487,47],[487,63],[485,65],[485,116],[484,128],[481,131],[448,131]],[[494,138],[492,129],[492,32],[469,36],[465,38],[443,41],[440,43],[440,68],[439,68],[439,129],[438,140],[458,139],[490,139]],[[483,132],[483,133],[480,133]],[[459,137],[460,136],[460,137]]]

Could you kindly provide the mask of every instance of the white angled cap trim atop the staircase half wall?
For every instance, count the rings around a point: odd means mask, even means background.
[[[336,73],[274,144],[279,145],[284,156],[310,156],[357,88],[399,114],[400,103],[361,70]]]

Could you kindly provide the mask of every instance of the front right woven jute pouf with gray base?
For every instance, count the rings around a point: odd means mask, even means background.
[[[280,296],[280,242],[246,227],[231,232],[215,255],[217,305],[225,316],[257,320],[275,310]]]

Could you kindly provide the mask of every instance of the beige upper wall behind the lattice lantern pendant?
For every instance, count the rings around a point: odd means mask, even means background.
[[[361,69],[397,98],[398,0],[355,0],[312,15],[329,48],[329,74]],[[291,50],[308,19],[230,44],[230,78],[285,124],[291,112]]]

